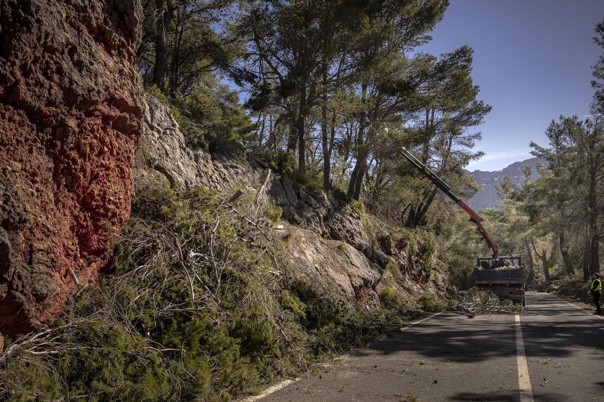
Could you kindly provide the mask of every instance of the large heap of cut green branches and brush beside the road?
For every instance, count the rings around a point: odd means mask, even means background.
[[[254,207],[140,193],[108,272],[0,355],[0,400],[226,401],[393,322],[294,278],[269,230],[280,210]]]

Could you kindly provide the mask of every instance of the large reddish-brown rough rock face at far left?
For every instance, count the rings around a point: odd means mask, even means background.
[[[97,277],[130,214],[138,0],[0,2],[0,333]]]

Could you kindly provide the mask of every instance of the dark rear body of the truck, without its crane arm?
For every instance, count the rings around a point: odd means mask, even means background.
[[[512,300],[525,306],[524,265],[521,257],[478,258],[474,278],[478,290],[493,292],[499,300]]]

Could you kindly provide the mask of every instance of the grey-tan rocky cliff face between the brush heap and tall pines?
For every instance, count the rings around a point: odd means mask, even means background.
[[[144,103],[135,187],[157,185],[159,179],[182,189],[202,185],[227,196],[236,190],[255,195],[266,168],[233,155],[187,146],[169,109],[149,95]],[[298,275],[367,307],[379,304],[384,269],[390,262],[402,269],[409,289],[417,289],[418,284],[422,289],[432,286],[431,272],[419,255],[411,255],[408,244],[395,243],[388,236],[374,241],[365,227],[367,220],[364,225],[362,216],[349,204],[274,174],[261,198],[283,210],[283,221],[275,232],[284,240]],[[402,286],[399,289],[405,291]]]

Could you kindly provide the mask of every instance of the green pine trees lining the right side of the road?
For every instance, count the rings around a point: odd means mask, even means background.
[[[604,25],[596,26],[594,41],[604,51]],[[544,165],[541,177],[520,186],[504,183],[500,191],[505,216],[495,216],[508,246],[522,250],[532,263],[539,260],[544,278],[550,268],[559,274],[582,271],[583,280],[600,272],[600,239],[604,218],[604,132],[602,110],[603,55],[593,66],[591,116],[559,116],[545,130],[547,146],[531,142],[532,154]],[[524,247],[522,244],[524,243]]]

